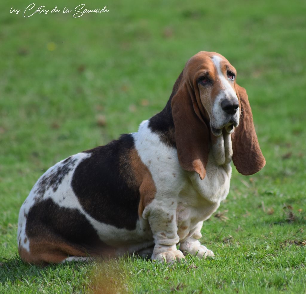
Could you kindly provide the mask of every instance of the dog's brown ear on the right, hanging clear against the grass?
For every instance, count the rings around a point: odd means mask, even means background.
[[[265,166],[266,160],[259,147],[247,92],[236,84],[236,94],[240,101],[241,116],[232,134],[233,163],[242,175],[253,175]]]

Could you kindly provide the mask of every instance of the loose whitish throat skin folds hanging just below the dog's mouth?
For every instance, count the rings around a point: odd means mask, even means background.
[[[211,151],[218,165],[230,164],[233,156],[231,134],[224,129],[218,137],[211,134]]]

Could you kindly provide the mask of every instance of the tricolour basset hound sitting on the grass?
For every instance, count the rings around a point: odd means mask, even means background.
[[[243,175],[265,165],[235,68],[201,51],[165,108],[138,132],[70,156],[39,178],[19,213],[21,259],[214,256],[199,239],[203,221],[229,193],[231,160]]]

